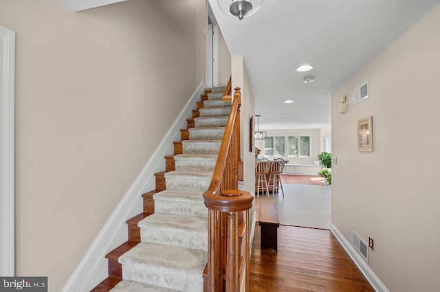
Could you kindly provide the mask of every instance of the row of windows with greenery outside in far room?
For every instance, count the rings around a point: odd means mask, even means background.
[[[310,157],[310,136],[272,136],[264,141],[264,156]]]

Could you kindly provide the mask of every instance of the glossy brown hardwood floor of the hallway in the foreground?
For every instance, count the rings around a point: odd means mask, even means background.
[[[250,291],[374,291],[329,230],[280,226],[278,252],[261,250],[256,223]]]

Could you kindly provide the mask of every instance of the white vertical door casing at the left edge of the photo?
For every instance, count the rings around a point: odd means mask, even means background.
[[[14,276],[15,32],[0,26],[0,276]]]

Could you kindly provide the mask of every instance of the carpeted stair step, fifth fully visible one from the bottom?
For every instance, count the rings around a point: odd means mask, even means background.
[[[178,171],[214,171],[217,163],[217,155],[179,154],[174,157]]]

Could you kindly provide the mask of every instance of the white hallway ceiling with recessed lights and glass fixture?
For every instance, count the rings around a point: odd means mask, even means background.
[[[231,56],[245,60],[261,130],[329,125],[331,94],[440,2],[265,0],[240,21],[208,1]],[[314,69],[295,71],[306,63]]]

